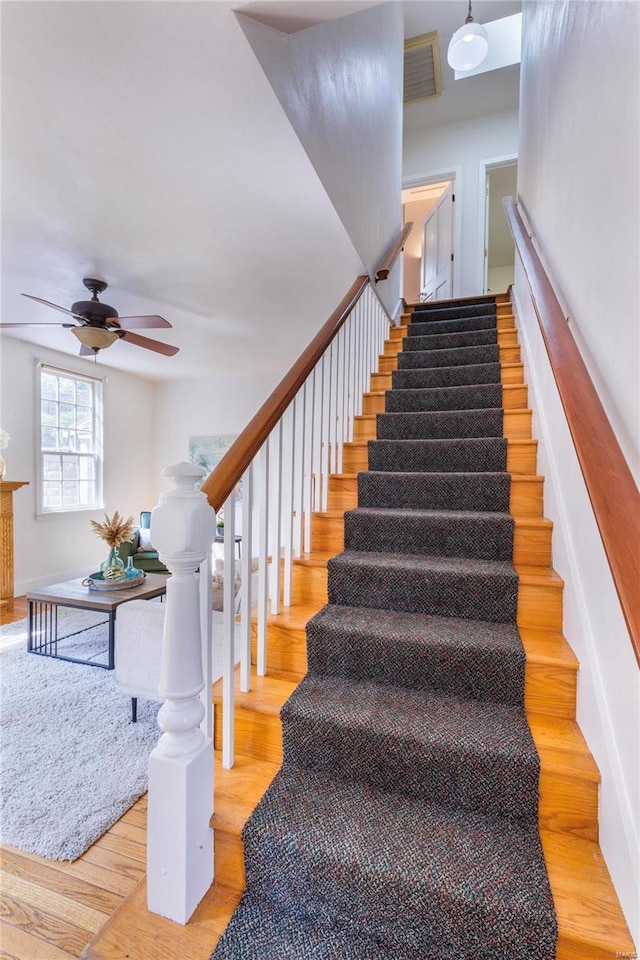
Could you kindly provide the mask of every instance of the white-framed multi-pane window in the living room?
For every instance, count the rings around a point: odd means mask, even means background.
[[[102,506],[102,382],[40,366],[41,513]]]

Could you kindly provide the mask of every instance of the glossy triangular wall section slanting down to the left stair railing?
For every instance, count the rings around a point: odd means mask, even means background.
[[[241,14],[239,20],[371,273],[401,229],[402,5],[382,4],[294,34]],[[399,283],[397,266],[377,291],[390,312]]]

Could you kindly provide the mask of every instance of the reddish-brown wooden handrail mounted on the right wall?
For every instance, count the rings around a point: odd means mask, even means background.
[[[512,197],[504,207],[640,665],[640,493]]]

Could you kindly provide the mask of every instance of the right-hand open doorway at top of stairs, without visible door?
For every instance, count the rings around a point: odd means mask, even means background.
[[[517,174],[514,157],[484,165],[483,293],[504,293],[514,281],[515,246],[502,200],[516,196]]]

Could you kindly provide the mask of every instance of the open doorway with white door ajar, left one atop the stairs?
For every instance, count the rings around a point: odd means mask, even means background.
[[[413,221],[404,247],[402,295],[407,303],[453,296],[454,180],[402,191],[403,222]]]

